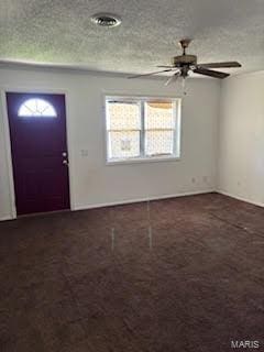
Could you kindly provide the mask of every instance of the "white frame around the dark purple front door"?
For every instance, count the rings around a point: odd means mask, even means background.
[[[2,116],[3,116],[3,134],[4,134],[4,145],[6,145],[6,160],[8,165],[8,178],[9,178],[9,198],[10,198],[10,218],[16,219],[16,206],[15,206],[15,190],[14,190],[14,177],[13,177],[13,158],[11,151],[11,135],[9,129],[9,116],[8,116],[8,105],[7,105],[7,92],[21,92],[21,94],[61,94],[65,96],[65,110],[66,110],[66,144],[68,152],[68,178],[69,178],[69,207],[70,210],[75,210],[74,201],[74,173],[73,173],[73,139],[69,129],[69,106],[68,106],[68,91],[63,89],[51,89],[51,88],[29,88],[29,87],[12,87],[4,86],[1,87],[1,102],[2,102]]]

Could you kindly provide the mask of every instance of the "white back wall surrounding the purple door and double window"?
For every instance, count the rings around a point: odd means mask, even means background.
[[[199,193],[216,188],[220,85],[189,79],[183,101],[182,160],[107,166],[103,92],[175,96],[176,86],[160,79],[128,80],[85,73],[0,69],[0,88],[67,91],[72,208]],[[7,120],[7,119],[6,119]],[[0,107],[0,218],[10,216],[11,198],[3,144],[4,106]],[[81,150],[88,156],[81,156]],[[11,189],[12,190],[12,189]]]

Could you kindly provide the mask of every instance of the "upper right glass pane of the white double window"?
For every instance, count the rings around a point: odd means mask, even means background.
[[[145,102],[145,129],[174,129],[174,103],[172,101]]]

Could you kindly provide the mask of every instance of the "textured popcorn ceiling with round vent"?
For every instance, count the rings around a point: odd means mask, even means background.
[[[119,14],[122,24],[92,24],[90,16],[102,11]],[[264,1],[0,1],[0,61],[144,73],[179,54],[183,37],[194,38],[189,53],[199,62],[239,61],[241,73],[264,69]]]

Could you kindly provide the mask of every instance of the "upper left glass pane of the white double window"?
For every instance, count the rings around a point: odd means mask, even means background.
[[[140,130],[140,105],[136,102],[108,102],[108,130]]]

